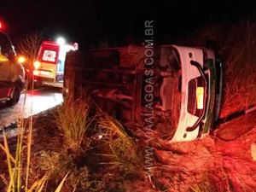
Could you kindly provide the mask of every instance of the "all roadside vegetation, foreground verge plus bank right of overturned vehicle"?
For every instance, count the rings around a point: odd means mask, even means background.
[[[207,39],[216,42],[224,59],[221,116],[256,102],[255,37],[256,23],[242,20],[232,26],[208,26],[180,42],[200,46]],[[4,130],[1,138],[1,191],[255,190],[256,166],[248,153],[255,129],[229,142],[211,135],[171,144],[154,131],[131,137],[84,92],[56,108],[19,119],[17,126],[15,139],[5,137]],[[150,142],[143,137],[146,134]],[[150,175],[145,170],[146,145],[152,148]]]

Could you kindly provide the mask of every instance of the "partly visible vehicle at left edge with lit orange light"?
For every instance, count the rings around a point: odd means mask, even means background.
[[[24,67],[17,61],[15,47],[9,36],[0,32],[0,102],[15,105],[24,88]]]

